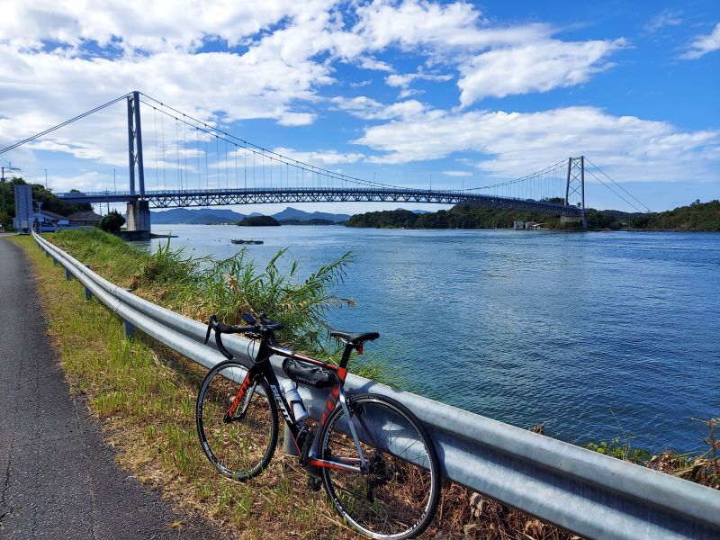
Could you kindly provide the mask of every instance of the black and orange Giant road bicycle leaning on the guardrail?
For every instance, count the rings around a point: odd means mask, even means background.
[[[300,464],[314,491],[325,488],[340,516],[372,538],[410,538],[424,531],[435,516],[440,497],[440,469],[435,446],[415,415],[398,401],[379,394],[346,394],[347,364],[355,350],[377,332],[331,331],[345,343],[339,365],[281,347],[275,331],[282,324],[255,320],[235,327],[213,315],[211,331],[226,361],[215,365],[202,382],[195,409],[202,450],[228,478],[247,481],[262,473],[277,446],[279,409]],[[259,340],[252,365],[234,359],[222,334],[244,334]],[[248,347],[249,351],[249,347]],[[294,382],[329,388],[317,430],[305,421],[307,412],[293,383],[283,391],[270,363],[284,357],[284,371]],[[249,355],[248,355],[249,356]],[[349,419],[349,421],[348,421]]]

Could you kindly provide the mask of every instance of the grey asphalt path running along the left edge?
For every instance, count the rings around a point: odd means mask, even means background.
[[[0,238],[0,538],[218,537],[113,463],[45,332],[30,262]]]

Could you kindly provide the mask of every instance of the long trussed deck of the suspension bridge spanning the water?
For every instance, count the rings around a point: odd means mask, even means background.
[[[275,202],[430,202],[437,204],[474,204],[491,208],[538,211],[554,215],[580,217],[576,206],[547,201],[506,197],[469,190],[427,190],[407,188],[233,188],[211,190],[162,190],[144,194],[130,192],[58,193],[68,202],[122,202],[145,199],[152,208],[211,206],[227,204],[263,204]]]

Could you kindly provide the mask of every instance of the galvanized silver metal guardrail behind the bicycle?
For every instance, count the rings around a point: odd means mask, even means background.
[[[125,324],[210,368],[223,357],[202,344],[205,325],[145,301],[112,284],[34,235]],[[211,342],[210,342],[211,343]],[[226,338],[229,350],[250,362],[244,338]],[[254,349],[249,349],[254,353]],[[275,359],[276,360],[276,359]],[[284,377],[279,361],[275,372]],[[376,392],[405,403],[426,425],[444,475],[512,507],[589,538],[720,538],[720,492],[674,476],[600,455],[466,410],[348,375],[350,392]],[[447,389],[448,396],[453,389]],[[327,396],[301,386],[312,418]]]

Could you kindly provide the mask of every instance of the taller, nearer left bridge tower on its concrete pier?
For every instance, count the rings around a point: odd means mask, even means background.
[[[135,192],[135,170],[138,172],[139,198],[128,202],[128,230],[138,236],[150,232],[150,208],[145,200],[145,169],[142,163],[142,129],[140,127],[140,94],[136,90],[128,96],[128,160],[130,165],[130,193]],[[145,233],[144,235],[142,233]]]

